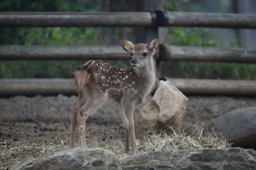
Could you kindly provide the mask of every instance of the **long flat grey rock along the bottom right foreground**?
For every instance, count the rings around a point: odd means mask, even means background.
[[[186,149],[138,154],[120,159],[123,170],[256,169],[253,149]]]

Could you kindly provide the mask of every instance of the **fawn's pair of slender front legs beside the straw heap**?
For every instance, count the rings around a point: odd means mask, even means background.
[[[134,151],[135,151],[138,154],[139,150],[137,147],[135,132],[134,132],[134,119],[133,119],[134,103],[123,101],[122,106],[124,107],[124,113],[125,113],[124,116],[128,120],[127,123],[125,123],[125,126],[126,126],[125,127],[125,133],[126,133],[125,140],[127,140],[127,135],[128,135],[130,142],[131,142],[131,146],[132,146],[132,153],[134,153]],[[125,141],[125,149],[127,149],[125,151],[129,151],[129,149],[130,149],[129,147],[130,147],[129,142]]]

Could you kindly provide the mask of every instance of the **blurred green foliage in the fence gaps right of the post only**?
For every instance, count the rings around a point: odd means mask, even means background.
[[[179,11],[186,9],[188,1],[165,0],[165,10]],[[203,11],[198,0],[189,1],[197,12]],[[222,6],[227,3],[219,2]],[[208,11],[209,12],[209,11]],[[216,11],[218,12],[218,11]],[[210,28],[180,28],[167,27],[165,30],[165,43],[171,45],[191,45],[198,47],[239,48],[236,40],[229,38],[225,45],[220,37],[216,36],[214,29]],[[175,78],[209,78],[209,79],[255,79],[256,64],[219,63],[219,62],[191,62],[169,61],[165,63],[163,74]]]

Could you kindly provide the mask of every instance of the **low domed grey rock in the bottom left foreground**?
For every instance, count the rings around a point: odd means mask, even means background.
[[[14,167],[15,170],[121,170],[118,157],[104,149],[73,148],[31,159]]]

